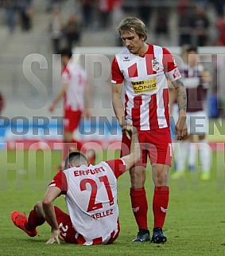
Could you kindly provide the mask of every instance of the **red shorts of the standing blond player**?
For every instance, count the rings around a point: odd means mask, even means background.
[[[135,166],[146,166],[147,155],[151,163],[172,165],[172,141],[169,128],[139,131],[139,142],[142,148],[142,159]],[[130,154],[130,140],[122,134],[120,156]]]

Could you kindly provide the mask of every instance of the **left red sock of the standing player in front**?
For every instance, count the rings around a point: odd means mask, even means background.
[[[145,187],[140,189],[130,188],[130,199],[134,217],[139,229],[148,229],[147,212],[148,203],[145,195]]]

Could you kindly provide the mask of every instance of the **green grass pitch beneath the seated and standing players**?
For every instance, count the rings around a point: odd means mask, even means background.
[[[99,156],[98,161],[114,158],[114,152]],[[118,153],[115,153],[118,156]],[[61,242],[46,245],[50,237],[47,223],[38,227],[35,238],[29,238],[14,226],[11,211],[29,211],[43,198],[54,175],[53,167],[60,163],[59,152],[0,152],[0,255],[225,255],[225,193],[224,152],[213,153],[211,180],[200,181],[200,167],[186,171],[185,179],[170,180],[169,211],[165,221],[168,242],[134,243],[138,232],[130,207],[129,174],[118,180],[118,206],[121,233],[110,246],[78,246]],[[17,169],[17,171],[15,171]],[[171,169],[173,171],[173,167]],[[148,166],[145,183],[149,200],[148,222],[152,230],[153,183]],[[63,197],[56,205],[66,211]]]

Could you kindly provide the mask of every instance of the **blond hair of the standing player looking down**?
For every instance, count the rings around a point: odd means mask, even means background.
[[[117,28],[118,36],[121,37],[122,31],[134,31],[138,34],[139,37],[144,36],[145,40],[147,39],[147,29],[144,22],[135,17],[127,17],[123,19]]]

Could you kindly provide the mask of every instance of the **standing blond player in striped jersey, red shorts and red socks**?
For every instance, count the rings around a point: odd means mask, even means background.
[[[146,43],[147,30],[138,18],[129,17],[120,22],[118,35],[126,49],[112,61],[112,104],[122,128],[121,156],[130,148],[127,124],[138,128],[142,160],[130,168],[130,199],[138,224],[134,242],[150,240],[147,223],[148,204],[145,195],[145,167],[147,156],[152,165],[153,236],[151,241],[166,242],[162,228],[169,203],[169,168],[172,164],[172,144],[169,131],[169,79],[177,92],[179,119],[176,124],[177,140],[187,135],[186,92],[173,56],[164,47]],[[122,87],[125,89],[125,108]]]

